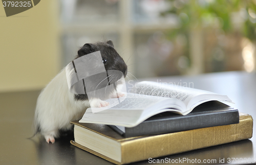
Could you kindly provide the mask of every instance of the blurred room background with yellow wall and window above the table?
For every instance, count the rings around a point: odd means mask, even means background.
[[[136,78],[255,70],[256,0],[44,0],[0,22],[0,91],[40,89],[108,39]]]

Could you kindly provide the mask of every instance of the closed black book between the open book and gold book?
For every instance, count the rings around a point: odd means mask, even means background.
[[[156,114],[141,124],[132,127],[110,126],[124,137],[187,131],[198,128],[239,123],[238,109],[218,101],[197,106],[186,115],[173,112]]]

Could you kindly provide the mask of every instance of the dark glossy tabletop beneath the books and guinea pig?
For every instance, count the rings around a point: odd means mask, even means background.
[[[239,111],[252,115],[256,119],[256,74],[245,72],[212,73],[200,76],[159,77],[145,80],[168,82],[182,86],[227,95]],[[128,87],[130,84],[127,84]],[[0,164],[112,164],[104,159],[80,150],[70,144],[74,139],[70,133],[56,140],[55,144],[47,144],[45,139],[37,136],[32,139],[32,123],[36,99],[40,91],[20,91],[0,93]],[[194,150],[181,154],[156,159],[206,159],[207,164],[248,163],[256,153],[256,127],[253,124],[253,136],[247,140],[229,144]],[[237,158],[237,159],[232,159]],[[216,163],[214,162],[216,160]],[[234,161],[232,161],[234,160]],[[152,164],[148,160],[133,164]],[[165,164],[165,163],[164,163]],[[183,163],[187,164],[187,163]],[[192,162],[191,162],[192,164]],[[197,164],[197,163],[193,163]],[[201,163],[202,164],[202,163]]]

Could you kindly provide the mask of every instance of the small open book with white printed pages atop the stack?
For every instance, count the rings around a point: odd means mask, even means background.
[[[96,123],[123,127],[135,127],[155,114],[172,111],[182,115],[191,112],[196,106],[208,101],[231,102],[217,93],[170,85],[142,81],[134,86],[134,93],[125,93],[126,99],[109,109],[92,113],[88,108],[80,123]]]

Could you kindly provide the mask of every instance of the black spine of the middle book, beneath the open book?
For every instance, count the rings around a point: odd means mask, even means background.
[[[125,128],[125,137],[150,134],[171,133],[192,129],[223,126],[239,123],[238,110],[220,111],[214,113],[199,113],[166,120],[146,121],[136,127]]]

